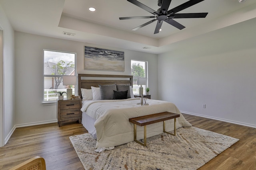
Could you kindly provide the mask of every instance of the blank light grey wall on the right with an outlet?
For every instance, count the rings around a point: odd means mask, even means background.
[[[158,56],[158,91],[185,113],[256,127],[256,19]],[[202,108],[206,104],[206,108]]]

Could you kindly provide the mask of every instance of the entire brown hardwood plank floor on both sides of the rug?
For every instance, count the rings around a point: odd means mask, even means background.
[[[256,170],[256,129],[213,119],[183,114],[194,127],[240,139],[199,170]],[[0,148],[0,169],[9,168],[34,156],[42,156],[47,170],[83,170],[69,137],[87,133],[78,123],[57,123],[17,128]]]

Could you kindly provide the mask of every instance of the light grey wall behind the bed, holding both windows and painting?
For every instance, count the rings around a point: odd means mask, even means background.
[[[124,51],[125,71],[84,70],[84,45]],[[15,123],[56,121],[56,105],[42,106],[43,49],[76,53],[77,73],[130,75],[130,59],[148,61],[152,98],[158,97],[157,55],[15,32]]]

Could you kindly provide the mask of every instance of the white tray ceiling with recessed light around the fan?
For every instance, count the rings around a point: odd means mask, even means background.
[[[172,0],[169,10],[187,1]],[[157,0],[139,2],[159,8]],[[204,0],[180,13],[208,12],[206,18],[174,19],[186,27],[182,30],[164,22],[162,31],[154,34],[156,22],[131,30],[152,19],[119,20],[152,16],[126,0],[0,0],[0,4],[15,31],[154,54],[170,51],[173,43],[256,18],[255,0]],[[90,12],[89,7],[96,11]]]

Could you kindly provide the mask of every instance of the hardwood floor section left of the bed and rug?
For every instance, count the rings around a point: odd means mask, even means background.
[[[88,131],[78,123],[17,128],[8,143],[0,147],[0,169],[8,170],[29,158],[41,156],[47,170],[84,170],[69,139],[83,133]]]

